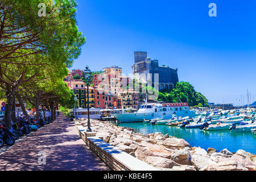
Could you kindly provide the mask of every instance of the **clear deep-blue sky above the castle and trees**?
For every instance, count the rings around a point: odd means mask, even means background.
[[[217,17],[208,15],[216,3]],[[247,89],[256,100],[256,1],[77,0],[86,37],[74,68],[118,65],[132,73],[134,51],[178,68],[209,102],[235,105]],[[237,101],[236,101],[237,99]],[[241,101],[240,101],[241,103]]]

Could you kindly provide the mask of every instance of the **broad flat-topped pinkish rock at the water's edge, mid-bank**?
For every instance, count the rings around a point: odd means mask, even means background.
[[[163,141],[158,141],[156,144],[162,145],[167,148],[178,148],[183,149],[184,147],[191,147],[188,142],[186,142],[184,139],[179,138],[167,138]]]

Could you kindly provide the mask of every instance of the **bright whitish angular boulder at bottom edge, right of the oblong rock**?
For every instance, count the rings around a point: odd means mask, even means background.
[[[210,160],[208,156],[193,154],[191,156],[191,164],[195,166],[197,170],[202,170],[210,165],[216,164],[216,162]]]

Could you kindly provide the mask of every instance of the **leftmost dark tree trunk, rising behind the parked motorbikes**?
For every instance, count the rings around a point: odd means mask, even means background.
[[[15,103],[15,88],[10,85],[6,86],[6,106],[4,122],[6,126],[11,126],[11,113],[13,111],[13,103]]]

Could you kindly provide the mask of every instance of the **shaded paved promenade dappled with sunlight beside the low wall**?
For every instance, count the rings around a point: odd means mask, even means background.
[[[39,164],[39,152],[46,152],[46,164]],[[42,157],[42,156],[41,156]],[[110,170],[77,134],[76,127],[60,114],[0,154],[0,170]]]

